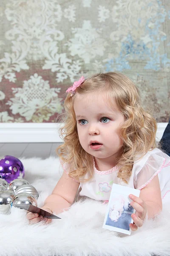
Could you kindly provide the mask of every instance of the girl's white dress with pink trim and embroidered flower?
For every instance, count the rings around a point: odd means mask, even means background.
[[[68,164],[63,164],[62,168],[69,174]],[[134,162],[128,183],[117,177],[118,172],[118,166],[108,171],[99,171],[94,163],[94,176],[88,182],[80,183],[79,195],[108,201],[113,183],[141,190],[158,175],[161,197],[163,201],[170,201],[170,157],[160,149],[148,151],[141,160]],[[87,177],[88,174],[85,175]]]

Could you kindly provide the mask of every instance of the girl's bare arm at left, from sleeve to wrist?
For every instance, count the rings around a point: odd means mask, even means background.
[[[62,212],[73,204],[78,188],[79,183],[63,172],[52,194],[45,199],[43,208],[48,207],[56,214]]]

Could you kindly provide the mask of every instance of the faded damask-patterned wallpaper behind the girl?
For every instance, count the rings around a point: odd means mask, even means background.
[[[0,0],[0,122],[55,122],[77,78],[129,76],[170,117],[169,0]]]

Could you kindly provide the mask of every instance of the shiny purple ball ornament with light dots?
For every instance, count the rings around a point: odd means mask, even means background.
[[[17,178],[23,178],[25,175],[25,169],[23,163],[13,156],[0,157],[0,178],[10,183]]]

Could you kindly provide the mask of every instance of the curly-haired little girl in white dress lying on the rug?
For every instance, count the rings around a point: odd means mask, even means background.
[[[68,209],[78,189],[79,196],[108,201],[116,183],[141,190],[139,198],[129,195],[136,210],[130,228],[137,230],[146,215],[161,211],[170,192],[170,157],[156,148],[156,120],[142,108],[137,87],[119,73],[82,76],[66,92],[64,143],[57,148],[64,172],[42,208],[56,214]],[[27,218],[42,220],[33,213]]]

